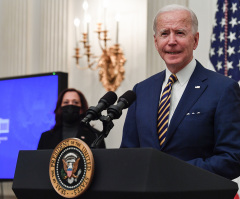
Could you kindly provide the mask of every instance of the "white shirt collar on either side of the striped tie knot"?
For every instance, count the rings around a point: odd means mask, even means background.
[[[176,76],[181,85],[185,84],[190,79],[196,65],[197,65],[197,62],[193,58],[192,61],[188,65],[186,65],[182,70],[177,72]],[[166,78],[169,79],[171,74],[172,73],[166,67]]]

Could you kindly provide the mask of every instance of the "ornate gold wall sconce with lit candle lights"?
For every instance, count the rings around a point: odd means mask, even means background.
[[[83,3],[83,8],[86,12],[86,1]],[[89,42],[89,24],[90,16],[85,15],[85,30],[82,33],[82,40],[79,41],[78,36],[78,27],[80,25],[80,20],[75,18],[74,25],[76,28],[76,48],[75,55],[73,56],[76,59],[77,68],[80,70],[91,69],[98,70],[99,80],[102,83],[103,87],[107,91],[115,91],[124,80],[124,64],[126,58],[124,53],[120,48],[118,42],[118,33],[119,33],[119,17],[116,16],[116,43],[113,46],[108,47],[107,42],[110,40],[108,38],[108,30],[106,29],[106,9],[104,9],[104,28],[102,29],[102,23],[97,24],[97,33],[98,43],[101,48],[102,54],[100,56],[95,56],[92,53],[91,45]],[[82,43],[84,54],[80,53],[80,44]],[[87,66],[82,67],[79,64],[80,58],[87,58]]]

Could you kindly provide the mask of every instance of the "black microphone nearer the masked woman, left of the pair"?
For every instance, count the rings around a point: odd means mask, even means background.
[[[101,116],[101,112],[114,104],[117,100],[117,95],[113,91],[107,92],[98,102],[97,106],[91,106],[87,112],[86,117],[81,122],[87,123],[91,120],[97,120]]]

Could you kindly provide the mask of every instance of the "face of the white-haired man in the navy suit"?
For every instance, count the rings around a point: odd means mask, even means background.
[[[192,33],[188,11],[169,11],[158,16],[155,47],[172,73],[177,73],[192,60],[198,40],[199,34]]]

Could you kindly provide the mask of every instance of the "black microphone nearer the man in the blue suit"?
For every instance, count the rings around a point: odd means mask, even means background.
[[[122,110],[128,108],[134,101],[136,100],[136,94],[129,90],[125,92],[118,99],[118,103],[116,105],[111,105],[108,110],[108,116],[113,119],[118,119],[122,115]]]

